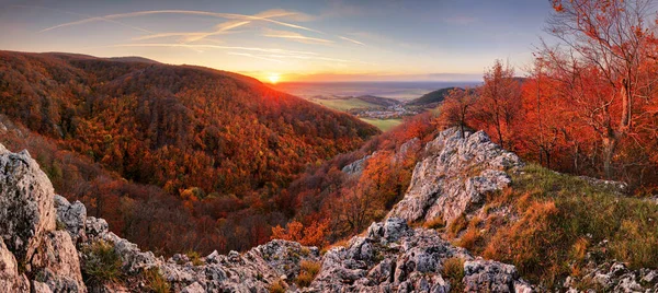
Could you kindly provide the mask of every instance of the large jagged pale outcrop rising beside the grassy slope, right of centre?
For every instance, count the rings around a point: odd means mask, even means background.
[[[523,163],[515,154],[491,142],[483,132],[441,132],[424,149],[427,157],[413,171],[405,198],[388,216],[429,221],[441,216],[446,223],[483,207],[488,192],[510,183],[508,172]]]

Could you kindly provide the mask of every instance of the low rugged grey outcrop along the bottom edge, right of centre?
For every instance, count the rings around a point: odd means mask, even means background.
[[[444,273],[449,259],[465,261],[463,279]],[[374,223],[365,236],[336,247],[322,258],[307,292],[530,292],[514,266],[475,259],[433,230],[412,230],[402,219]],[[500,290],[500,291],[499,291]]]

